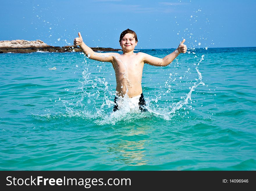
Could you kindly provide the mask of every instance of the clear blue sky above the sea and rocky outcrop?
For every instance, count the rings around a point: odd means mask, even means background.
[[[137,49],[176,48],[182,38],[195,48],[255,47],[255,8],[253,0],[2,0],[0,40],[64,46],[80,31],[90,47],[120,48],[130,28]]]

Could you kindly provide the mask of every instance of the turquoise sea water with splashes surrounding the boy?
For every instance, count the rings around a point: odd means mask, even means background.
[[[111,63],[0,54],[0,170],[256,170],[256,48],[188,51],[144,66],[149,112],[114,114]]]

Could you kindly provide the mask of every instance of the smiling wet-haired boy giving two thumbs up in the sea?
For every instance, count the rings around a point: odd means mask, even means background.
[[[147,111],[141,86],[144,64],[167,66],[180,53],[186,53],[187,51],[186,45],[183,44],[185,39],[183,39],[179,47],[164,58],[157,58],[143,52],[134,53],[138,38],[136,33],[129,28],[120,35],[119,43],[123,51],[122,54],[94,52],[83,42],[80,33],[78,33],[78,36],[74,39],[74,45],[80,46],[88,58],[101,62],[111,62],[113,65],[116,78],[116,96],[113,111],[121,109],[124,101],[128,101],[130,108]]]

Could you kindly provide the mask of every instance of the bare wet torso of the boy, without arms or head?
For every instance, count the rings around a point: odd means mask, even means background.
[[[126,93],[128,97],[140,95],[144,66],[142,55],[140,53],[133,53],[129,56],[116,54],[112,64],[115,70],[117,95],[122,97]]]

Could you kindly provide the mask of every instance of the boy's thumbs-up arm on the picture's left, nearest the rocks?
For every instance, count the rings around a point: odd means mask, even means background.
[[[83,52],[88,56],[88,58],[97,60],[100,62],[111,62],[113,61],[113,56],[115,56],[116,53],[99,53],[94,52],[90,47],[88,47],[84,42],[83,38],[81,36],[81,33],[78,33],[78,38],[74,39],[74,45],[79,46]]]

